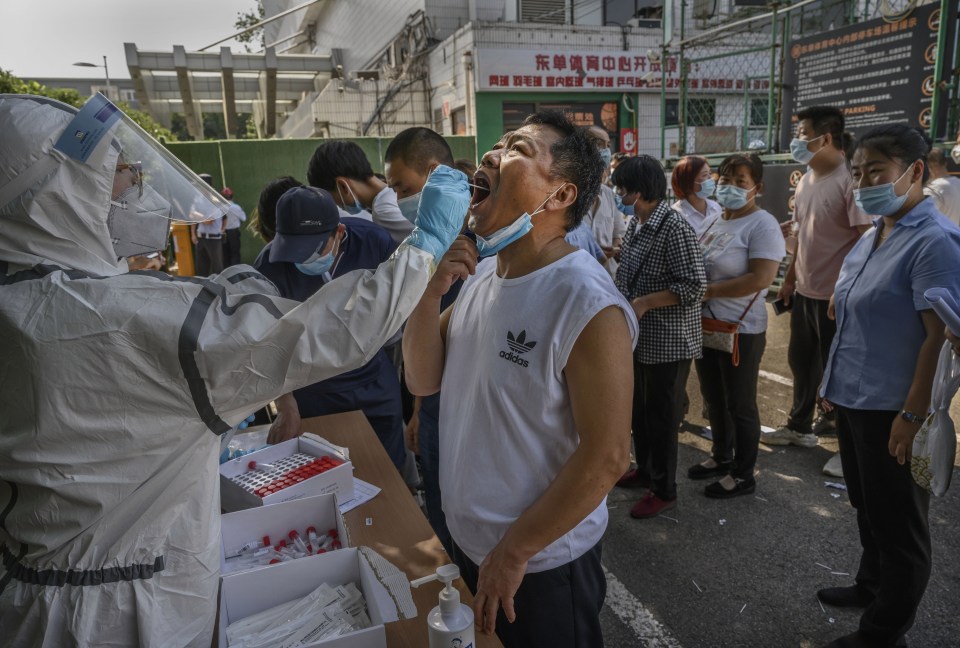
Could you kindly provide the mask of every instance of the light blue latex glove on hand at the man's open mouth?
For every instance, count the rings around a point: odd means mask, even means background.
[[[460,230],[470,206],[470,185],[462,171],[440,165],[423,186],[417,226],[407,241],[440,260]]]

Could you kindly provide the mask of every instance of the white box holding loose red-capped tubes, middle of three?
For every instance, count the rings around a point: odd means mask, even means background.
[[[318,535],[326,533],[329,529],[336,529],[337,539],[343,548],[350,546],[347,527],[343,523],[343,516],[340,515],[337,496],[333,493],[225,513],[220,518],[220,572],[227,573],[226,556],[235,553],[245,542],[260,540],[268,535],[270,542],[274,545],[279,544],[280,540],[286,540],[288,545],[292,545],[287,533],[293,529],[296,529],[303,541],[307,542],[306,529],[311,526],[317,529]],[[304,559],[297,559],[297,561],[300,560]],[[238,574],[241,571],[267,567],[276,567],[276,565],[252,565],[230,573]]]

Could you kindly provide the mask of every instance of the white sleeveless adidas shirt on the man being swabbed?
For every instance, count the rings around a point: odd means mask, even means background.
[[[440,490],[447,526],[476,564],[553,482],[580,443],[563,369],[602,309],[633,309],[593,257],[577,250],[523,277],[484,260],[463,286],[447,332],[440,392]],[[553,569],[593,547],[606,500],[527,563]]]

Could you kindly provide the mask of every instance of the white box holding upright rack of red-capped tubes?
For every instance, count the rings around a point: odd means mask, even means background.
[[[247,472],[251,461],[271,463],[284,457],[302,452],[314,457],[331,456],[343,461],[343,464],[326,472],[306,479],[299,484],[288,486],[281,491],[267,495],[263,499],[250,493],[230,480],[231,477]],[[339,448],[325,443],[319,437],[298,437],[277,445],[251,452],[237,459],[220,464],[220,507],[224,511],[242,511],[256,506],[276,504],[290,500],[335,493],[341,502],[353,499],[353,464]]]

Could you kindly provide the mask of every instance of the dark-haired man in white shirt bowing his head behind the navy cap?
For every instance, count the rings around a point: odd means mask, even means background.
[[[353,142],[333,140],[318,146],[307,166],[307,184],[330,192],[346,215],[372,219],[397,243],[413,230],[413,222],[397,205],[396,192],[373,174],[363,149]]]

